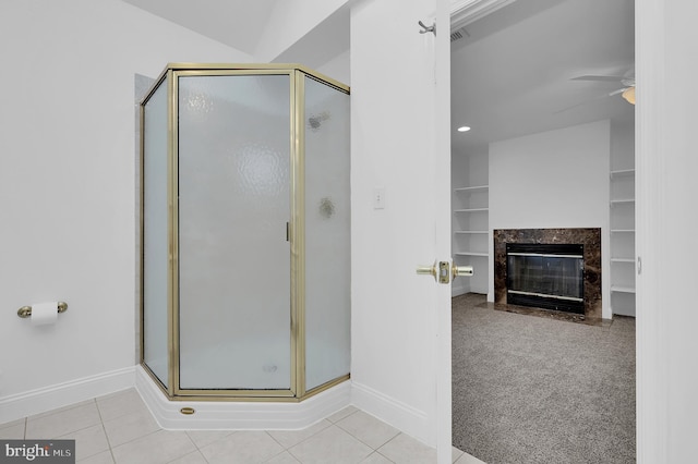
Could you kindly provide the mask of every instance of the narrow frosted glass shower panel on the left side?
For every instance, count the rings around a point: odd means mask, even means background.
[[[153,93],[143,121],[143,361],[168,386],[167,85]]]

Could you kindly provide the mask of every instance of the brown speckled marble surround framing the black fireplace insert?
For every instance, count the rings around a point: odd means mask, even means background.
[[[494,302],[506,304],[506,244],[581,244],[585,246],[585,318],[601,319],[601,229],[495,229]]]

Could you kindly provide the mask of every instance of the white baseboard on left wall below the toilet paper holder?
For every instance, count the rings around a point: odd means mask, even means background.
[[[0,424],[132,388],[134,366],[0,398]]]

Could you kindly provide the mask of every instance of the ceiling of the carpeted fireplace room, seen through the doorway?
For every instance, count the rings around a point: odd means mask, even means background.
[[[491,142],[610,119],[633,124],[618,82],[634,77],[634,0],[516,0],[452,41],[454,154]],[[472,130],[457,133],[460,125]]]

